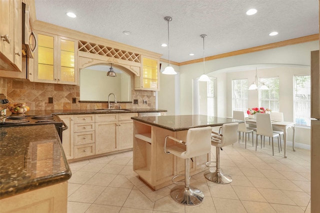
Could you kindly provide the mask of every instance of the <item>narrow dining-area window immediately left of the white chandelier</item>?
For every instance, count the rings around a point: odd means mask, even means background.
[[[248,80],[232,80],[232,111],[246,111],[248,109]]]

